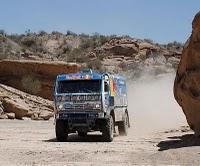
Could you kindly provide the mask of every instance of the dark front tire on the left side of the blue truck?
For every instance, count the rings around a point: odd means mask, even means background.
[[[66,127],[64,121],[57,120],[55,130],[56,130],[57,141],[64,142],[67,140],[68,133],[67,133],[67,127]]]

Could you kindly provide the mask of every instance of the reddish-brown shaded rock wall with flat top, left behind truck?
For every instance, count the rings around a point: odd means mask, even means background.
[[[73,73],[80,65],[64,62],[0,61],[0,83],[52,100],[56,75]]]

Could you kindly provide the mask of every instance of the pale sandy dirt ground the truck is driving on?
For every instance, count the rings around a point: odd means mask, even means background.
[[[56,142],[53,121],[1,120],[0,165],[199,165],[199,142],[186,128],[101,142],[98,133]],[[136,130],[135,130],[136,131]]]

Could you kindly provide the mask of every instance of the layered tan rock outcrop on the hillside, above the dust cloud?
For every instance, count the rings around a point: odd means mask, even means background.
[[[150,70],[157,72],[159,68],[163,70],[163,67],[176,69],[181,51],[181,47],[168,49],[167,46],[144,40],[116,37],[96,48],[88,56],[91,57],[91,61],[99,58],[109,71],[138,70],[138,73],[141,73],[144,68],[147,68],[147,72]]]

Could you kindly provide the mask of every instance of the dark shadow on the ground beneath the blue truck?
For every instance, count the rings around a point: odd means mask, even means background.
[[[56,138],[43,140],[44,142],[58,142]],[[104,142],[102,135],[87,135],[85,137],[78,134],[69,134],[66,142]]]

